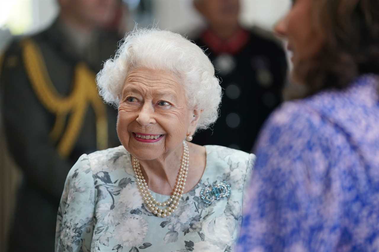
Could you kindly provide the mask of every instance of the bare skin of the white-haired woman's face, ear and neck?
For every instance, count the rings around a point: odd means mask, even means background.
[[[194,133],[201,116],[200,110],[187,106],[181,81],[167,71],[132,70],[125,79],[118,108],[117,134],[122,145],[139,160],[149,188],[163,194],[170,194],[175,185],[182,142]],[[163,137],[158,142],[146,143],[136,140],[135,133]],[[200,155],[201,162],[196,165],[205,167],[204,147],[189,144],[189,152],[195,157]],[[193,174],[193,185],[201,174]]]

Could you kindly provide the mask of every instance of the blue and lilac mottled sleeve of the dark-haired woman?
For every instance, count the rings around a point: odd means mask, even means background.
[[[236,251],[334,250],[341,201],[332,168],[343,141],[332,124],[296,103],[271,116],[258,140]]]

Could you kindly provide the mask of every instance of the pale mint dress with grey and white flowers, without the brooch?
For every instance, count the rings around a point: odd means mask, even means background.
[[[233,251],[255,156],[222,146],[205,148],[201,180],[166,218],[147,210],[123,146],[81,156],[66,179],[55,251]],[[230,196],[205,204],[200,191],[222,181],[230,185]],[[158,201],[169,198],[152,195]]]

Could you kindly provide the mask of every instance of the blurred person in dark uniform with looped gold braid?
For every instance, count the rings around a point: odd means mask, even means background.
[[[83,153],[119,145],[116,110],[99,98],[95,74],[121,36],[118,0],[59,0],[53,24],[14,40],[3,56],[6,140],[23,178],[9,251],[54,250],[67,173]]]

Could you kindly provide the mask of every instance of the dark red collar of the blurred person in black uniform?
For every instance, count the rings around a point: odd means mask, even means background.
[[[215,53],[238,53],[249,41],[249,32],[240,28],[236,33],[227,40],[222,40],[210,29],[205,30],[201,38],[205,44]]]

